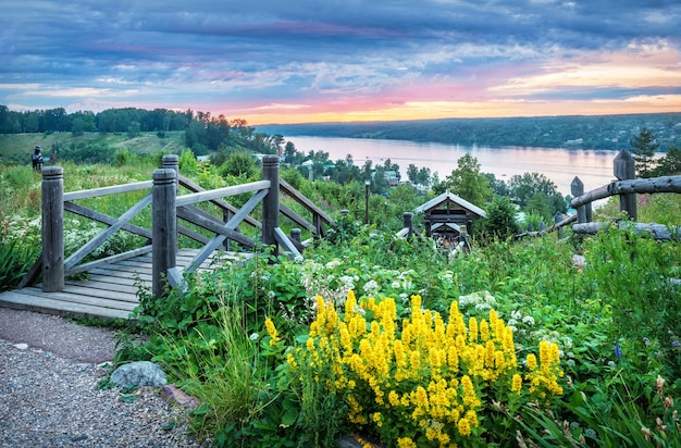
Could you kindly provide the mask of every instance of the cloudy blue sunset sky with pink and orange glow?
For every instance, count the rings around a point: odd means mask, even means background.
[[[681,111],[679,0],[0,0],[0,104],[249,124]]]

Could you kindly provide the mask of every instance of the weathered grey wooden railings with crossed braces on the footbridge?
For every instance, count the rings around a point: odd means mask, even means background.
[[[42,170],[42,253],[22,279],[20,287],[35,282],[42,273],[42,290],[60,291],[64,289],[66,276],[151,251],[152,294],[160,297],[166,286],[183,285],[183,275],[195,271],[214,250],[228,249],[230,241],[250,250],[257,248],[258,244],[255,238],[239,232],[242,224],[256,228],[260,234],[262,245],[271,247],[274,254],[278,254],[281,246],[289,257],[300,257],[300,252],[308,244],[324,235],[324,225],[332,224],[333,220],[295,188],[278,178],[276,155],[265,155],[262,167],[262,181],[205,190],[178,174],[178,158],[171,154],[163,157],[163,167],[153,172],[152,181],[72,192],[63,192],[62,167],[45,167]],[[181,186],[190,192],[178,196]],[[74,203],[79,199],[146,189],[151,189],[151,191],[120,217],[109,216]],[[311,213],[311,222],[280,203],[280,189]],[[274,194],[271,194],[272,191]],[[252,196],[242,208],[236,208],[224,200],[230,196],[244,194],[252,194]],[[198,208],[196,204],[199,202],[210,202],[222,210],[222,219]],[[262,203],[262,221],[250,216],[260,203]],[[131,221],[148,206],[152,208],[151,228],[132,224]],[[107,225],[102,232],[85,242],[66,260],[64,260],[63,238],[64,211]],[[280,213],[309,231],[312,238],[301,241],[299,228],[294,228],[290,237],[286,236],[278,226]],[[208,231],[214,236],[209,238],[203,235],[205,233],[181,226],[178,220]],[[117,231],[141,236],[147,242],[140,248],[124,253],[82,263],[88,254]],[[184,272],[177,269],[175,262],[178,235],[203,245]]]

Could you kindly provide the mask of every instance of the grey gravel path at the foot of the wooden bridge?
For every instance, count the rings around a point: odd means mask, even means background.
[[[141,388],[102,390],[113,332],[0,308],[0,447],[200,447],[186,411]]]

